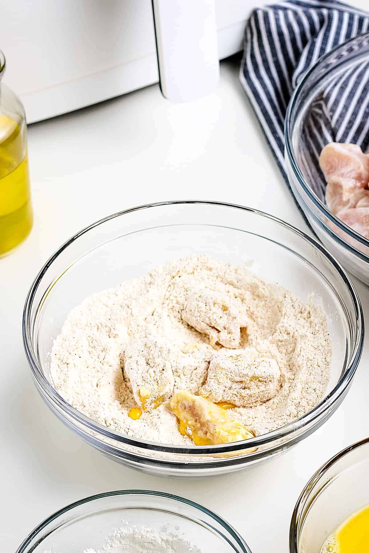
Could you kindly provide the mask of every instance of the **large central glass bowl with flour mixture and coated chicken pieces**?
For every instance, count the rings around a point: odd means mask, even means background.
[[[199,273],[196,263],[204,259],[206,271]],[[165,273],[172,262],[175,270]],[[247,320],[236,320],[232,302],[223,301],[211,280],[211,274],[220,274],[217,268],[224,268],[227,290],[240,283],[237,289],[245,291]],[[217,291],[214,301],[207,295],[207,304],[219,320],[235,321],[235,331],[220,332],[215,338],[220,345],[214,347],[199,325],[207,320],[201,295],[191,293],[181,313],[175,307],[189,284],[204,290],[206,279]],[[146,283],[144,289],[140,283]],[[127,290],[138,295],[130,300]],[[191,320],[193,307],[200,315],[197,323]],[[260,318],[263,312],[270,317]],[[163,332],[155,340],[129,341],[127,333],[143,324],[151,336],[155,324]],[[216,333],[217,324],[206,332]],[[318,429],[349,391],[363,335],[355,288],[320,243],[266,213],[218,202],[139,206],[93,223],[41,268],[23,316],[32,377],[50,410],[112,460],[184,478],[252,466]],[[173,347],[164,341],[168,336]],[[237,344],[228,343],[236,337]],[[251,340],[270,353],[253,358]],[[67,344],[75,347],[68,350]],[[211,354],[212,366],[203,363],[202,354]],[[248,354],[250,378],[241,371]],[[283,374],[279,367],[285,367]],[[228,395],[232,390],[234,399]],[[249,400],[256,406],[245,407]],[[231,404],[220,405],[227,401]],[[252,425],[245,416],[252,416]]]

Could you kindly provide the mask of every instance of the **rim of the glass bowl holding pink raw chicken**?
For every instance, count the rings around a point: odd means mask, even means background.
[[[350,44],[352,42],[355,42],[356,40],[362,39],[364,36],[369,37],[369,31],[366,32],[366,33],[362,33],[360,35],[354,36],[354,38],[346,40],[346,42],[335,46],[335,48],[332,48],[328,53],[321,56],[321,58],[319,58],[318,61],[316,61],[316,63],[312,67],[310,67],[310,69],[306,72],[303,79],[299,82],[298,86],[295,88],[295,90],[292,94],[292,97],[290,98],[290,101],[289,101],[288,106],[287,106],[285,122],[284,122],[284,138],[285,138],[285,153],[287,154],[287,157],[288,157],[289,163],[291,164],[293,173],[294,173],[295,177],[297,178],[297,180],[299,182],[299,185],[302,187],[304,192],[308,195],[309,199],[313,202],[313,204],[318,208],[319,211],[323,212],[324,215],[332,223],[334,223],[337,227],[339,227],[342,231],[344,231],[345,234],[349,234],[349,236],[351,238],[354,238],[355,240],[357,240],[358,242],[363,244],[363,246],[369,247],[369,239],[363,237],[361,234],[354,231],[352,228],[347,226],[343,221],[341,221],[338,217],[336,217],[334,215],[334,213],[332,213],[323,204],[323,202],[319,199],[319,197],[315,194],[315,192],[313,192],[311,190],[311,187],[309,186],[308,182],[306,182],[306,180],[304,178],[304,175],[303,175],[302,171],[300,170],[300,167],[299,167],[299,165],[298,165],[298,163],[295,159],[294,147],[293,147],[293,144],[292,144],[293,127],[292,127],[292,122],[291,122],[292,111],[293,111],[297,101],[299,100],[299,97],[303,92],[304,85],[305,85],[306,81],[309,79],[309,77],[311,75],[313,75],[314,72],[316,70],[318,70],[318,68],[321,65],[323,65],[323,63],[325,62],[325,60],[327,58],[329,58],[329,56],[334,54],[336,51],[339,51],[340,49],[345,48],[347,46],[347,44]],[[366,47],[366,49],[367,49],[367,52],[369,54],[369,45]],[[350,60],[354,60],[355,58],[360,57],[362,54],[363,54],[362,51],[357,51],[356,53],[352,54]],[[342,61],[341,63],[344,64],[345,60]],[[325,77],[332,74],[334,71],[336,71],[336,69],[337,69],[336,66],[331,67],[326,72]],[[320,222],[322,222],[322,221],[320,221]],[[324,227],[326,227],[325,223],[323,223],[323,224],[324,224]],[[344,246],[346,248],[350,249],[350,251],[352,253],[355,253],[356,255],[361,257],[365,262],[369,263],[369,255],[366,255],[365,253],[362,253],[356,247],[352,246],[351,244],[349,244],[348,242],[346,242],[345,240],[343,240],[342,238],[337,236],[336,233],[334,233],[334,237],[335,237],[335,239],[338,239],[342,244],[344,244]]]

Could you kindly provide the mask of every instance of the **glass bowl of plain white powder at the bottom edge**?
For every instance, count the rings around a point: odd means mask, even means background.
[[[235,529],[197,503],[124,490],[68,505],[35,528],[16,553],[251,553]]]

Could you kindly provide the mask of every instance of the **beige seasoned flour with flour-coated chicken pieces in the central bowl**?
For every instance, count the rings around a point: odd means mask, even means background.
[[[232,419],[260,435],[323,398],[330,359],[313,300],[198,255],[75,307],[54,341],[51,375],[66,401],[111,430],[192,445],[170,409],[174,393],[230,401]],[[134,406],[143,409],[137,420]]]

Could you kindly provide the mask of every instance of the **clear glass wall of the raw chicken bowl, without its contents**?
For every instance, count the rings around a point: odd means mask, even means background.
[[[325,143],[321,136],[324,134],[323,126],[322,129],[319,128],[321,117],[316,126],[310,124],[314,109],[320,99],[330,93],[332,84],[349,71],[360,71],[367,62],[368,33],[349,40],[322,56],[306,73],[295,89],[287,109],[284,160],[290,187],[316,236],[347,270],[369,284],[369,239],[347,226],[326,205],[326,181],[319,167],[314,167],[314,160]],[[337,94],[343,96],[344,92],[340,90]],[[328,107],[329,105],[328,102]],[[358,103],[358,107],[360,106]],[[361,116],[358,112],[352,118],[354,123],[364,124],[368,119],[368,107],[361,110]],[[351,122],[347,122],[348,128]],[[352,142],[350,134],[346,134],[342,138],[337,135],[336,142]]]

